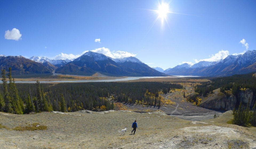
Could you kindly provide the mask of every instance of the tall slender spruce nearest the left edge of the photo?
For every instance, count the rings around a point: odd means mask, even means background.
[[[2,70],[2,82],[3,82],[3,99],[5,101],[4,111],[8,113],[13,113],[13,108],[10,101],[10,96],[7,88],[7,81],[5,76],[5,69]]]

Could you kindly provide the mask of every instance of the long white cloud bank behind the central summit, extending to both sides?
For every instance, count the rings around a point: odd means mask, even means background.
[[[125,52],[125,51],[111,52],[109,48],[105,48],[105,47],[97,48],[97,49],[94,49],[91,51],[96,52],[96,53],[102,53],[102,54],[109,56],[113,59],[120,59],[120,58],[124,58],[124,57],[136,56],[136,54]],[[61,53],[59,55],[56,55],[53,59],[54,60],[76,59],[86,52],[88,52],[88,51],[83,51],[81,54],[77,54],[77,55]]]

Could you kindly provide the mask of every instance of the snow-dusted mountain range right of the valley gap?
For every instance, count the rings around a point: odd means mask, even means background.
[[[184,65],[184,64],[183,64]],[[230,76],[256,71],[256,51],[247,51],[243,55],[229,55],[225,59],[215,62],[201,61],[193,66],[178,65],[164,71],[170,75],[194,76]]]

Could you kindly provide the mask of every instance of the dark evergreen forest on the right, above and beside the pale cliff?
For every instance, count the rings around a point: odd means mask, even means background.
[[[249,74],[236,74],[229,77],[210,78],[209,82],[201,83],[195,86],[195,92],[203,96],[207,96],[208,93],[213,93],[213,90],[220,88],[220,91],[225,93],[226,96],[230,96],[225,92],[231,90],[232,94],[237,98],[237,101],[242,101],[240,98],[240,92],[246,89],[253,91],[253,106],[250,106],[250,101],[247,106],[242,102],[237,102],[236,108],[233,110],[234,119],[232,123],[240,126],[256,126],[256,73]],[[189,97],[189,100],[196,100],[197,94]]]

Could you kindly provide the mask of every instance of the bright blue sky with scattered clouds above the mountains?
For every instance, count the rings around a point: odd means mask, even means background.
[[[163,24],[154,23],[159,3],[174,12]],[[255,7],[253,0],[3,0],[0,54],[65,59],[93,50],[163,69],[212,61],[256,49]]]

